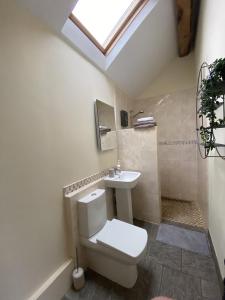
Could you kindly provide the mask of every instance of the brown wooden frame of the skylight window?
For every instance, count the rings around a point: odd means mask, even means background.
[[[82,1],[82,0],[81,0]],[[76,18],[72,13],[69,15],[69,19],[87,36],[87,38],[104,54],[107,55],[112,48],[116,45],[119,38],[122,36],[124,31],[136,18],[139,12],[143,7],[149,2],[149,0],[140,0],[128,13],[126,18],[117,26],[115,32],[110,34],[111,38],[108,40],[108,43],[103,47],[96,38],[90,33],[90,31]]]

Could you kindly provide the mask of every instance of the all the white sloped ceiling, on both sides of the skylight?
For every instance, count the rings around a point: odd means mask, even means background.
[[[150,0],[153,1],[153,0]],[[156,0],[154,0],[156,1]],[[17,0],[61,33],[77,0]],[[131,98],[135,98],[177,57],[174,0],[157,0],[110,67],[109,76]]]

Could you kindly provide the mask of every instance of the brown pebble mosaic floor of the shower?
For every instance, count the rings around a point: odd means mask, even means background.
[[[206,229],[201,210],[197,203],[162,198],[162,219]]]

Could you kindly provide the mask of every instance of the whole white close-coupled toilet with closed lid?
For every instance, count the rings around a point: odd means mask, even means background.
[[[126,288],[133,287],[137,263],[146,250],[147,231],[117,219],[108,221],[104,189],[78,200],[78,215],[88,267]]]

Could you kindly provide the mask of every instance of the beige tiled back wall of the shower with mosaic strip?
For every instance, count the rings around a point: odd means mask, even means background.
[[[134,111],[153,114],[158,124],[159,166],[163,197],[197,200],[195,91],[136,100]]]

